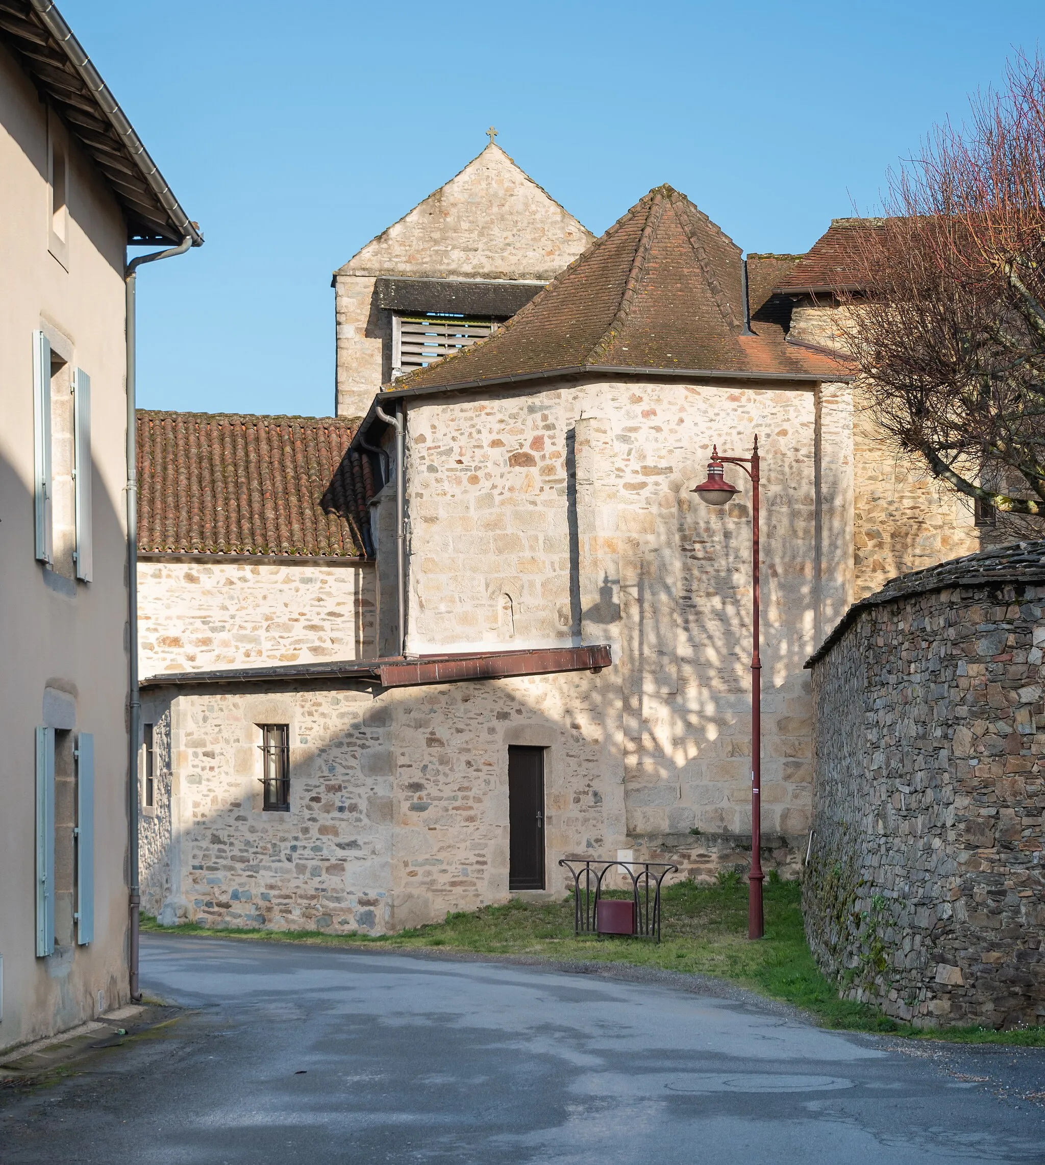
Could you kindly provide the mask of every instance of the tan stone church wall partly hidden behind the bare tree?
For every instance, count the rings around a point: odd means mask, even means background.
[[[790,337],[831,351],[845,350],[839,329],[845,308],[811,298],[791,313]],[[853,400],[854,598],[874,594],[889,579],[981,549],[972,502],[934,478],[916,458],[884,446],[860,386]]]

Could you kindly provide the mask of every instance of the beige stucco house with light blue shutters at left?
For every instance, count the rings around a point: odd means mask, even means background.
[[[0,1047],[127,1001],[125,255],[200,241],[51,3],[0,20]]]

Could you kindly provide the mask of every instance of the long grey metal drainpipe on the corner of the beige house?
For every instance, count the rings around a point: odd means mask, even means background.
[[[137,986],[137,912],[141,906],[141,885],[139,884],[137,862],[137,736],[141,720],[141,699],[137,691],[137,450],[136,450],[136,377],[135,361],[137,358],[137,318],[136,284],[137,268],[142,263],[153,263],[157,259],[171,259],[184,255],[192,246],[192,236],[185,235],[177,247],[167,250],[154,250],[149,255],[139,255],[127,264],[125,283],[127,288],[127,628],[128,628],[128,677],[130,692],[130,723],[128,747],[128,789],[127,805],[130,820],[130,998],[136,1003],[141,998]]]

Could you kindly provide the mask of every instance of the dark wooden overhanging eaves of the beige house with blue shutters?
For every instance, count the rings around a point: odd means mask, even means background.
[[[134,126],[51,0],[0,0],[0,42],[61,114],[122,206],[129,243],[203,243]]]

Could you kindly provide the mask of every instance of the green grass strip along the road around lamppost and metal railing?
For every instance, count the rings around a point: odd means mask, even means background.
[[[712,885],[678,882],[664,890],[661,942],[574,935],[572,897],[546,903],[514,898],[500,906],[447,915],[443,923],[383,938],[319,931],[217,930],[196,924],[185,924],[172,931],[158,926],[148,915],[142,916],[141,929],[161,934],[220,934],[223,938],[313,946],[444,947],[474,954],[624,962],[714,975],[802,1008],[826,1028],[972,1044],[1045,1046],[1045,1028],[1014,1031],[986,1028],[922,1030],[889,1019],[867,1004],[840,1000],[835,984],[820,974],[810,954],[803,929],[799,884],[768,878],[764,883],[764,909],[765,937],[751,942],[747,937],[747,885],[736,874],[726,874]]]

